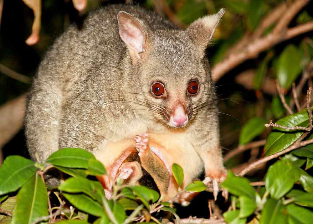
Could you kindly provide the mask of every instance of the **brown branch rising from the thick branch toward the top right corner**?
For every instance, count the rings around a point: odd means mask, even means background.
[[[273,34],[279,34],[281,31],[287,28],[290,21],[295,15],[303,8],[310,0],[296,0],[290,7],[288,7],[288,13],[284,13],[279,22],[273,30]]]

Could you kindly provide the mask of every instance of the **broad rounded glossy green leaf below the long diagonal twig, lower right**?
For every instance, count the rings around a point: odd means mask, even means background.
[[[290,160],[279,160],[271,165],[265,175],[265,188],[271,196],[284,196],[300,178],[300,170]]]

